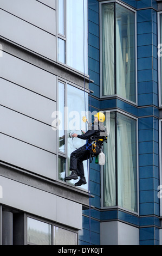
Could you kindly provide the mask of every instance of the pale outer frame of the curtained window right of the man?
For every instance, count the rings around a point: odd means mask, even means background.
[[[127,212],[131,212],[137,216],[139,216],[139,149],[138,149],[138,118],[137,117],[134,117],[133,115],[131,114],[128,114],[124,111],[121,111],[119,109],[110,109],[110,110],[107,110],[105,112],[117,112],[117,113],[121,113],[123,115],[126,115],[127,117],[129,118],[132,118],[134,120],[136,120],[136,136],[137,136],[137,212],[134,212],[134,211],[131,211],[131,210],[128,210],[126,208],[122,208],[121,206],[119,205],[114,205],[114,206],[103,206],[103,167],[101,167],[101,209],[121,209],[121,210],[124,210],[124,211],[127,211]],[[116,125],[116,124],[115,124]],[[116,148],[115,148],[116,150]],[[116,185],[116,184],[115,184]],[[117,195],[118,196],[118,195]]]

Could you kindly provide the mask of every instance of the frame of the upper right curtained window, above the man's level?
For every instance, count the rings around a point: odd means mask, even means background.
[[[124,4],[122,2],[120,2],[119,0],[109,0],[109,1],[103,1],[100,2],[100,6],[99,6],[99,13],[100,13],[100,74],[102,74],[102,4],[106,4],[106,3],[118,3],[120,5],[122,5],[123,7],[131,10],[134,12],[135,14],[135,19],[134,19],[134,43],[135,43],[135,99],[136,101],[131,101],[126,99],[125,97],[120,96],[119,94],[116,94],[116,79],[115,79],[115,84],[114,84],[114,92],[115,94],[113,95],[103,95],[102,94],[102,75],[100,76],[100,98],[101,99],[105,99],[105,98],[112,98],[112,97],[119,97],[121,100],[124,100],[126,102],[130,102],[133,105],[137,106],[138,105],[138,77],[137,77],[137,11],[131,7],[129,7],[129,5]],[[114,28],[115,29],[115,28]],[[115,47],[115,42],[114,42],[114,47]],[[114,50],[115,51],[115,50]],[[114,52],[114,61],[116,63],[116,56],[115,56],[115,52]],[[115,68],[115,72],[116,72],[116,68]],[[116,74],[115,74],[116,76]]]

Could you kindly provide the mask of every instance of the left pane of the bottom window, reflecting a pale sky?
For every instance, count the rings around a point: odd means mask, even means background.
[[[51,245],[51,225],[28,217],[27,242],[34,245]]]

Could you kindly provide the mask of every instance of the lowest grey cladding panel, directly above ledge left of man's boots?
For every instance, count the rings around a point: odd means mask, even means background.
[[[56,155],[0,133],[0,160],[56,180]]]

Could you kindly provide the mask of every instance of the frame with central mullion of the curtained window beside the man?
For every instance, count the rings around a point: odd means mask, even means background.
[[[121,113],[123,115],[126,115],[127,117],[129,118],[132,118],[134,120],[136,120],[136,138],[137,138],[137,141],[136,141],[136,147],[137,147],[137,156],[136,156],[136,161],[137,161],[137,212],[135,211],[131,211],[129,209],[126,209],[126,208],[123,208],[122,206],[119,206],[118,205],[118,159],[117,159],[117,141],[116,141],[116,137],[117,137],[117,134],[115,134],[115,190],[116,190],[116,205],[114,206],[103,206],[103,198],[104,198],[104,195],[103,195],[103,166],[101,166],[101,209],[105,210],[105,209],[120,209],[120,210],[124,210],[124,211],[127,211],[127,212],[131,212],[135,215],[138,215],[139,216],[139,149],[138,149],[138,118],[131,115],[131,114],[128,114],[124,111],[121,111],[119,109],[110,109],[110,110],[106,110],[105,112],[114,112],[115,113],[115,116],[117,113]],[[116,119],[116,117],[115,117]],[[115,123],[115,133],[116,133],[116,123]],[[116,177],[117,175],[117,177]]]

